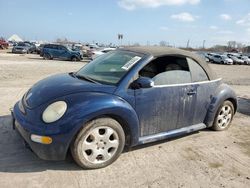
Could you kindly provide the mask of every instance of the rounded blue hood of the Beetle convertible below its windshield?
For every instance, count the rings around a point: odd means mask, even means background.
[[[73,76],[72,73],[58,74],[45,78],[25,94],[24,100],[29,108],[55,100],[56,98],[79,92],[113,93],[115,86],[96,84]]]

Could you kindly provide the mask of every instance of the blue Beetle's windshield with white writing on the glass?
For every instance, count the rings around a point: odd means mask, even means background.
[[[102,84],[116,85],[141,58],[141,54],[134,52],[112,51],[84,66],[76,76],[87,77]]]

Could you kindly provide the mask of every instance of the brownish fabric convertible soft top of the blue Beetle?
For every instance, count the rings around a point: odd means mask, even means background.
[[[195,53],[192,53],[186,50],[181,50],[178,48],[160,47],[160,46],[126,47],[121,50],[138,52],[138,53],[142,53],[145,55],[147,54],[147,55],[153,56],[154,58],[168,56],[168,55],[189,57],[195,60],[197,63],[199,63],[199,65],[206,71],[210,80],[215,80],[218,78],[204,59],[202,59],[200,56],[196,55]]]

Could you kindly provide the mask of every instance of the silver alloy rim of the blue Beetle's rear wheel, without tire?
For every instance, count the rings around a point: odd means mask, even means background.
[[[232,109],[229,105],[225,105],[221,108],[217,118],[217,123],[220,128],[226,128],[232,119]]]

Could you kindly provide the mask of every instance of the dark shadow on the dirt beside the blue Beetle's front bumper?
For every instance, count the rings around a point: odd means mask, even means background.
[[[12,129],[10,115],[0,116],[0,172],[23,173],[46,170],[82,170],[70,154],[64,161],[45,161],[39,159],[25,147],[19,133]]]

